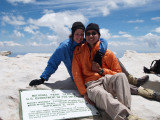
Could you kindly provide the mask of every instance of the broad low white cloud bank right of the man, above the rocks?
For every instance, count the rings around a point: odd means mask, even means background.
[[[118,47],[121,49],[158,49],[160,47],[160,36],[148,33],[144,36],[134,37],[126,32],[119,32],[120,35],[111,36],[109,46]],[[122,39],[123,38],[123,39]]]

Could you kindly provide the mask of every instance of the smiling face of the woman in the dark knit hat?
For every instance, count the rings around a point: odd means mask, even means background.
[[[84,39],[84,31],[82,29],[77,29],[75,32],[74,32],[74,35],[73,35],[73,40],[76,42],[76,43],[81,43]]]

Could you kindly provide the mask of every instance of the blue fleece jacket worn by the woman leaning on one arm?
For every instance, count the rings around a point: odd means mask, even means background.
[[[105,53],[105,51],[107,50],[108,43],[106,40],[102,38],[100,39],[100,41],[101,41],[100,52]],[[63,63],[65,64],[68,70],[69,75],[71,76],[73,80],[72,58],[73,58],[74,49],[77,45],[78,43],[76,43],[71,38],[60,43],[59,47],[55,50],[55,52],[50,57],[47,67],[45,68],[44,72],[42,73],[40,77],[45,80],[48,80],[49,77],[53,73],[55,73],[61,61],[63,61]]]

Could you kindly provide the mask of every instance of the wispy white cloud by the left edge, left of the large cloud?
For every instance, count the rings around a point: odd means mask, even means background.
[[[2,24],[11,24],[14,26],[18,26],[18,25],[25,25],[25,21],[24,18],[22,16],[3,16],[2,17]]]

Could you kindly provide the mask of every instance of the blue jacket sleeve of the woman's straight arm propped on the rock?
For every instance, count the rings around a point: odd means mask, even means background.
[[[42,75],[40,76],[40,78],[43,78],[45,80],[48,80],[49,77],[55,73],[55,71],[57,70],[59,64],[61,63],[61,61],[63,60],[63,56],[64,56],[64,47],[63,45],[60,45],[55,52],[52,54],[52,56],[50,57],[48,64],[44,70],[44,72],[42,73]]]

